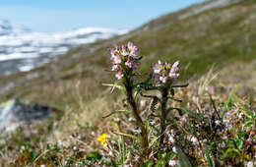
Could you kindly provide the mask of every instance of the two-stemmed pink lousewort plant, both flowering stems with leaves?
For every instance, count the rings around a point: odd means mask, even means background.
[[[137,55],[138,47],[134,45],[133,42],[128,42],[127,45],[122,45],[119,47],[115,45],[114,48],[108,49],[111,54],[110,63],[112,64],[111,71],[115,72],[115,77],[117,78],[117,82],[114,84],[104,84],[104,85],[111,85],[113,88],[117,87],[125,92],[126,101],[130,108],[128,110],[123,110],[125,113],[132,113],[133,117],[135,118],[135,123],[137,127],[140,129],[140,137],[139,140],[141,141],[141,146],[143,151],[141,154],[142,159],[146,157],[149,159],[150,155],[150,147],[152,149],[152,144],[159,143],[160,147],[164,147],[163,139],[164,133],[166,129],[166,117],[167,113],[171,110],[177,109],[169,107],[167,108],[167,100],[173,99],[176,101],[181,101],[179,99],[174,98],[174,87],[184,87],[188,84],[183,85],[175,85],[177,78],[179,77],[178,74],[178,65],[179,61],[175,62],[173,65],[169,63],[162,64],[160,61],[152,65],[153,73],[151,73],[150,77],[145,82],[135,82],[136,76],[139,75],[138,66],[140,65],[140,60],[142,57]],[[154,80],[151,83],[151,80]],[[117,84],[121,83],[121,84]],[[159,90],[161,96],[154,96],[154,95],[145,95],[142,93],[143,90]],[[139,113],[139,105],[137,103],[138,94],[141,94],[144,97],[153,98],[151,113],[148,115],[147,120],[143,120],[140,113]],[[155,139],[151,140],[151,145],[149,144],[149,140],[151,139],[151,132],[150,129],[150,120],[151,115],[153,112],[157,110],[156,105],[160,102],[160,134]],[[131,111],[130,111],[131,110]],[[178,109],[177,109],[178,110]],[[114,113],[120,112],[121,110],[115,111]],[[112,114],[112,113],[111,113]],[[111,115],[110,114],[110,115]],[[108,116],[110,116],[108,115]],[[158,127],[158,126],[157,126]],[[155,127],[155,129],[157,129]],[[155,130],[153,130],[155,131]],[[133,139],[138,139],[136,136],[127,135],[123,133],[119,133],[120,135],[132,137]],[[159,141],[157,141],[159,140]],[[157,142],[156,142],[157,141]],[[155,146],[156,147],[156,146]],[[157,150],[158,152],[159,150]],[[156,151],[153,151],[156,152]],[[152,152],[152,153],[153,153]],[[151,154],[152,156],[152,154]]]

